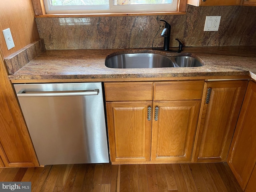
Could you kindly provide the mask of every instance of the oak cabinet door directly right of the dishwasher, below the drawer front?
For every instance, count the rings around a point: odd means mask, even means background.
[[[150,160],[152,102],[107,102],[111,162]]]

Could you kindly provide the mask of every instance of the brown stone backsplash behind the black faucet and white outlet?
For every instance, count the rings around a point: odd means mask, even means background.
[[[219,31],[204,32],[206,16],[221,16]],[[162,47],[164,22],[172,26],[170,46],[256,45],[256,7],[188,5],[186,15],[36,18],[46,49]]]

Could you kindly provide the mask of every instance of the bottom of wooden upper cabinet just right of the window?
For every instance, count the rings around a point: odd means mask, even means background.
[[[255,1],[255,0],[253,0]],[[187,4],[194,6],[225,6],[240,5],[240,0],[188,0]]]

